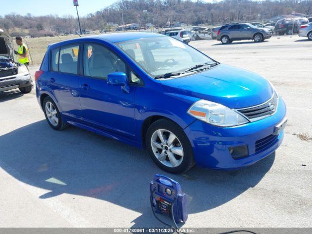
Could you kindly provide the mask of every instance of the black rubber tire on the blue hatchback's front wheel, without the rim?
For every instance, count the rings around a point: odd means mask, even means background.
[[[156,158],[153,152],[152,136],[159,129],[165,129],[165,130],[170,131],[171,133],[176,135],[176,138],[181,143],[180,146],[182,146],[182,149],[183,149],[183,158],[181,159],[182,161],[180,162],[180,164],[176,167],[169,167],[169,166],[164,165]],[[146,149],[149,155],[151,156],[152,160],[156,163],[156,165],[159,168],[161,168],[162,170],[166,172],[173,173],[173,174],[183,173],[183,172],[188,171],[195,165],[193,148],[188,137],[185,135],[183,129],[179,125],[177,125],[175,122],[169,119],[161,118],[151,124],[151,126],[148,128],[147,133],[146,133],[145,144],[146,144]]]

